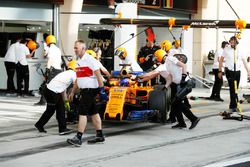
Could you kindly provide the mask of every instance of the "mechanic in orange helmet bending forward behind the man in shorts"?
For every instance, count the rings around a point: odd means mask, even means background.
[[[46,86],[44,96],[47,101],[47,107],[40,119],[35,124],[39,132],[46,133],[44,125],[49,121],[56,110],[56,119],[58,121],[59,134],[64,135],[71,133],[67,129],[65,119],[65,107],[63,95],[65,90],[76,81],[76,61],[72,60],[68,64],[69,70],[56,75]]]

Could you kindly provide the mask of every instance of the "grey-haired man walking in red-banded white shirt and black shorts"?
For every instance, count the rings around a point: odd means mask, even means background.
[[[72,138],[68,139],[69,144],[80,146],[82,144],[82,135],[87,125],[87,115],[90,115],[96,129],[96,137],[88,140],[89,144],[104,142],[105,138],[102,133],[102,121],[96,110],[96,95],[100,93],[101,100],[108,100],[108,96],[104,92],[103,80],[100,73],[98,62],[91,55],[86,53],[86,43],[78,40],[74,45],[75,54],[80,58],[77,62],[76,74],[77,80],[69,95],[72,100],[74,92],[80,89],[80,105],[79,105],[79,123],[78,132]]]

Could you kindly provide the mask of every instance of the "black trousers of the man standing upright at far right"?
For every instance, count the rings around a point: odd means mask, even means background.
[[[238,95],[235,93],[234,81],[237,82],[237,89],[239,88],[240,83],[240,71],[230,71],[227,68],[225,69],[226,78],[228,81],[229,92],[230,92],[230,104],[229,108],[237,108]]]

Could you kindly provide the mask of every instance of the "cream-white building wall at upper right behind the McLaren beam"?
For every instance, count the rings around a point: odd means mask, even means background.
[[[240,16],[241,19],[250,23],[249,15],[249,0],[230,0],[229,3]],[[202,0],[198,1],[198,13],[194,15],[194,19],[208,19],[208,20],[237,20],[237,16],[229,7],[225,0]],[[234,32],[235,29],[195,29],[194,30],[194,61],[193,61],[193,73],[204,77],[204,60],[207,60],[207,54],[209,50],[217,50],[220,48],[221,42],[225,39],[228,40],[234,33],[228,33],[225,31]],[[250,56],[250,30],[243,30],[242,39],[240,45],[244,48],[247,56]],[[246,85],[246,72],[243,69],[243,75],[241,78],[241,85]]]

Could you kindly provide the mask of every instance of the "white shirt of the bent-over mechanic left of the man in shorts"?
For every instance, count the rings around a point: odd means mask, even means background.
[[[47,88],[55,93],[62,93],[76,80],[76,72],[67,70],[57,74],[48,84]]]

